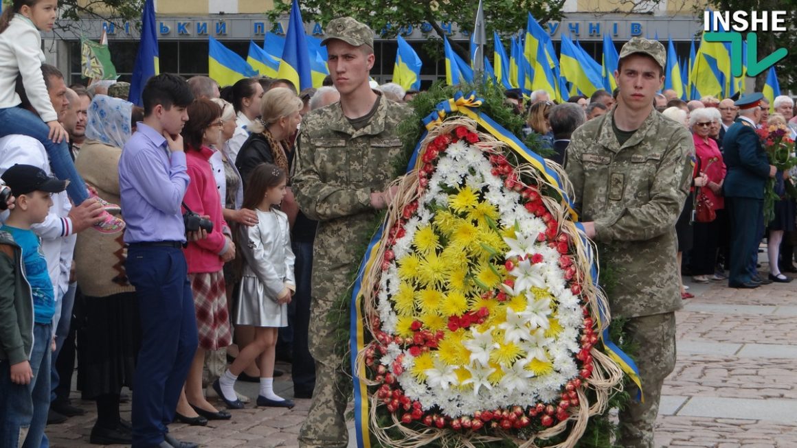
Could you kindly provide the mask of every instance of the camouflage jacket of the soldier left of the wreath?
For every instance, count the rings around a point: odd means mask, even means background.
[[[340,103],[304,116],[292,183],[301,211],[319,221],[314,285],[318,275],[348,272],[359,263],[359,248],[374,230],[371,192],[383,191],[395,178],[394,161],[402,148],[396,128],[410,112],[383,97],[371,122],[359,130],[351,127]]]

